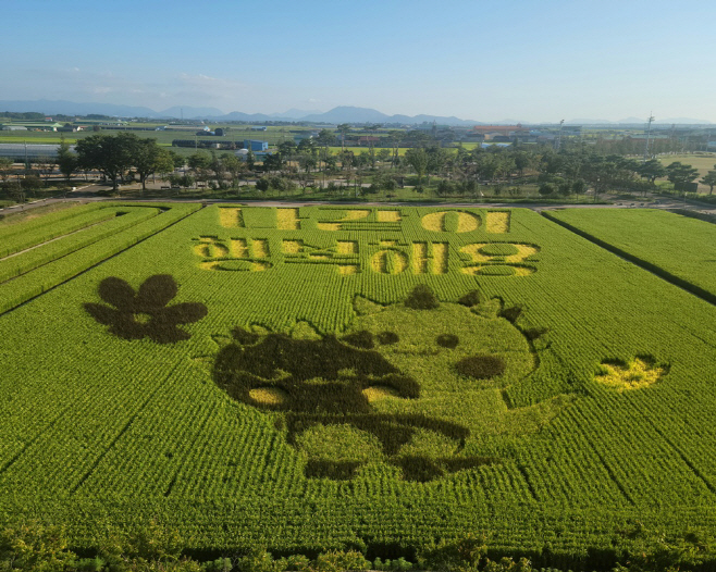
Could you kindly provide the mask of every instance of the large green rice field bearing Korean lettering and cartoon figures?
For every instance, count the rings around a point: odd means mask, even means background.
[[[703,279],[640,212],[620,248]],[[0,246],[2,524],[590,570],[716,531],[714,304],[532,211],[99,203]]]

